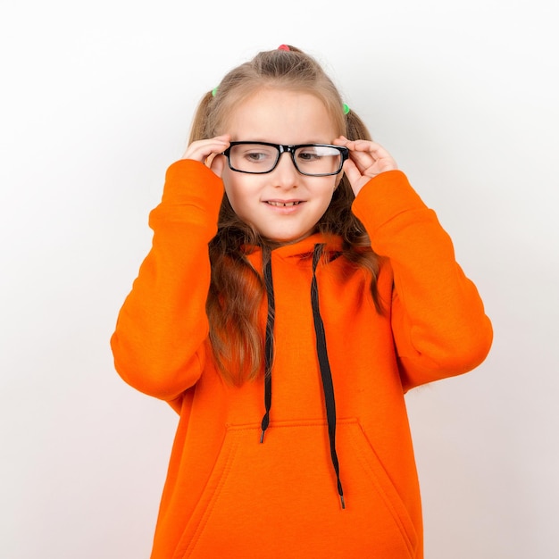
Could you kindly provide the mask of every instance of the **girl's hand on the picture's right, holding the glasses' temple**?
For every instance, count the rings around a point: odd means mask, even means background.
[[[355,196],[369,182],[381,172],[394,171],[398,168],[396,161],[384,147],[369,140],[348,140],[340,136],[334,140],[336,146],[346,146],[349,149],[349,159],[344,163],[344,172],[353,188]]]

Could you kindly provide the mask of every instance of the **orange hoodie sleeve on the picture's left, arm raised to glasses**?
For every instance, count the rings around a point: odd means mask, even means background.
[[[122,379],[170,403],[199,379],[208,334],[208,243],[217,232],[223,183],[203,163],[167,170],[163,198],[149,216],[152,247],[111,338]],[[173,405],[173,404],[171,404]]]

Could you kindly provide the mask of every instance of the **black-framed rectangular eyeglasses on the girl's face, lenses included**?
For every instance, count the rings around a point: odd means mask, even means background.
[[[343,146],[330,144],[300,144],[282,146],[268,142],[231,142],[223,152],[231,171],[264,174],[273,171],[281,154],[291,154],[297,171],[309,177],[337,175],[349,156]]]

